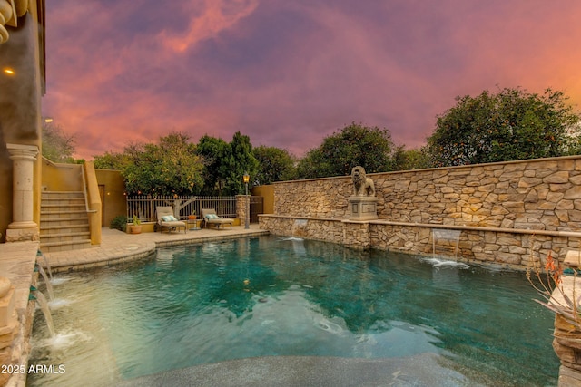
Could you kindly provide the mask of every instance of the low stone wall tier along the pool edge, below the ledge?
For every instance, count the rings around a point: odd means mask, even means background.
[[[579,249],[581,233],[498,227],[448,227],[371,220],[261,215],[261,228],[281,236],[325,240],[353,248],[378,248],[421,256],[454,256],[464,262],[527,269],[551,252],[565,256]],[[433,230],[454,229],[459,238],[434,240]],[[538,264],[537,264],[538,265]]]

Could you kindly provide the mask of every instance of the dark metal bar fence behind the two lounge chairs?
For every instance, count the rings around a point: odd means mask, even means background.
[[[172,207],[176,218],[186,220],[189,215],[202,215],[202,208],[213,208],[222,218],[236,218],[236,198],[218,196],[133,196],[127,197],[127,222],[133,222],[133,215],[142,222],[156,222],[155,208]]]

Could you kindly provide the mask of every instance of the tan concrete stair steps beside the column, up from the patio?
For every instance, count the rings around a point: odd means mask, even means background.
[[[44,191],[40,206],[40,248],[43,252],[91,247],[84,192]]]

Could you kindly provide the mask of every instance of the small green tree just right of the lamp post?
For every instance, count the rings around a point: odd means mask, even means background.
[[[254,148],[252,153],[259,163],[255,179],[259,184],[293,179],[295,160],[288,150],[262,145]]]

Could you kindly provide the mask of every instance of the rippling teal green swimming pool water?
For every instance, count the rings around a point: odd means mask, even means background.
[[[55,281],[57,335],[35,316],[30,363],[66,372],[29,385],[108,385],[255,356],[424,353],[468,384],[556,385],[554,315],[519,272],[268,236],[159,248]]]

